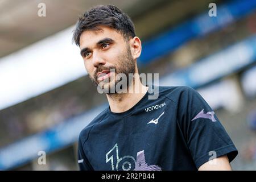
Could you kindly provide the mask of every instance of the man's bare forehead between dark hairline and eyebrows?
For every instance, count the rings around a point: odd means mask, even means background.
[[[111,38],[115,42],[124,41],[123,36],[114,30],[114,28],[100,26],[101,30],[87,30],[82,32],[80,36],[80,48],[92,47],[97,44],[98,41]]]

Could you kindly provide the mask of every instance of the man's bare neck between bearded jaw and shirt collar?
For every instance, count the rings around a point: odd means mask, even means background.
[[[148,90],[147,86],[142,85],[138,74],[135,74],[130,83],[127,93],[106,94],[113,113],[122,113],[131,109],[137,104]]]

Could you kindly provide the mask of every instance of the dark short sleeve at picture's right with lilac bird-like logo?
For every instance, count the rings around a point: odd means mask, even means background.
[[[212,108],[196,90],[183,86],[180,93],[177,122],[197,169],[213,154],[227,155],[229,162],[238,151]]]

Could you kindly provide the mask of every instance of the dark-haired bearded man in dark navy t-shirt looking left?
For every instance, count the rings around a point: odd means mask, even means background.
[[[237,149],[199,93],[187,86],[159,86],[158,98],[148,99],[152,92],[137,68],[141,40],[129,16],[112,5],[93,7],[77,22],[73,40],[109,102],[80,133],[81,170],[231,169]],[[116,90],[119,73],[133,73],[121,86],[129,92]]]

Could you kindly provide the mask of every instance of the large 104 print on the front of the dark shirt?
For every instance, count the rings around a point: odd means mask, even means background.
[[[156,165],[148,166],[146,163],[144,150],[137,153],[137,160],[133,156],[126,155],[119,159],[117,143],[106,154],[106,163],[111,162],[112,171],[122,167],[123,171],[161,171],[162,169]]]

